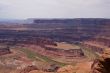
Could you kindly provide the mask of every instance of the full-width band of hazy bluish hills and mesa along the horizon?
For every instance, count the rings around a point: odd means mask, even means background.
[[[74,18],[74,19],[37,19],[37,18],[29,18],[29,19],[0,19],[0,23],[2,24],[109,24],[110,19],[106,18]]]

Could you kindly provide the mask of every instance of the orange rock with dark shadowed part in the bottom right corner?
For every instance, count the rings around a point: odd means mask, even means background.
[[[110,49],[92,64],[91,73],[110,73]]]

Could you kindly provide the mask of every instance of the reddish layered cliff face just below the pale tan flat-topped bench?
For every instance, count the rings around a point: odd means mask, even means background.
[[[81,49],[59,49],[59,48],[50,48],[45,47],[45,55],[56,56],[56,57],[65,57],[66,59],[84,57],[84,53]]]

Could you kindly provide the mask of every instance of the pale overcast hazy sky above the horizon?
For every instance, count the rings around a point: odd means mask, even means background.
[[[110,0],[0,0],[0,18],[110,18]]]

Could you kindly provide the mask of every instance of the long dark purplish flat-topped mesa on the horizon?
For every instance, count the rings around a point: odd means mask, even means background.
[[[110,19],[104,18],[34,19],[34,23],[107,24],[110,23]]]

